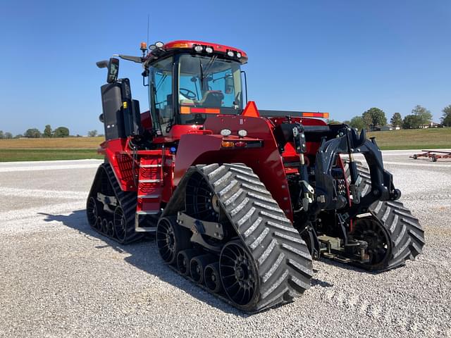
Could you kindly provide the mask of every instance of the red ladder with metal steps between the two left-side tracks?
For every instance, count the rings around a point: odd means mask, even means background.
[[[159,213],[161,213],[163,184],[163,160],[161,154],[141,157],[135,215],[136,232],[156,231],[156,226],[140,226],[140,223],[145,223],[146,218],[149,219],[152,216],[157,218]]]

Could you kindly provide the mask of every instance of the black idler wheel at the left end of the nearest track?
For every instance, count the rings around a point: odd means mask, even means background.
[[[179,251],[191,246],[190,237],[190,231],[178,226],[175,218],[160,218],[156,225],[156,246],[163,261],[175,264]]]

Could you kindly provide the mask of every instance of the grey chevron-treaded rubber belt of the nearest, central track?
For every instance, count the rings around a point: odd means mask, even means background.
[[[308,289],[313,268],[307,245],[252,169],[242,164],[197,168],[257,266],[259,296],[250,311],[287,303]]]

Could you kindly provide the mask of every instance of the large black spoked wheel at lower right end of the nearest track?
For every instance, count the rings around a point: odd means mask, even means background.
[[[241,242],[228,242],[219,256],[221,281],[234,306],[254,308],[259,295],[259,276],[254,259]]]

